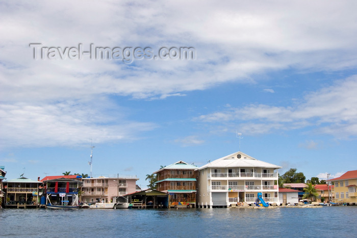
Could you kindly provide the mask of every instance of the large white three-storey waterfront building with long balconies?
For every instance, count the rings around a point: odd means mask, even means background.
[[[196,204],[200,207],[226,207],[238,202],[252,204],[258,193],[268,203],[279,203],[278,173],[282,168],[259,161],[241,151],[200,167]]]

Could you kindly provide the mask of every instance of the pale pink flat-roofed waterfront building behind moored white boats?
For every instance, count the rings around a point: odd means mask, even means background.
[[[136,192],[136,176],[82,178],[83,202],[116,202],[117,197]],[[114,199],[114,200],[113,200]]]

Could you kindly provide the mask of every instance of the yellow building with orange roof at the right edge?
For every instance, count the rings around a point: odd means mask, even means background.
[[[333,201],[357,205],[357,170],[348,171],[328,181],[334,182],[335,199]]]

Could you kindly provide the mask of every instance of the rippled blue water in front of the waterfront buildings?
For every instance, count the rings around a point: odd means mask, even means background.
[[[355,237],[357,206],[2,209],[1,237]]]

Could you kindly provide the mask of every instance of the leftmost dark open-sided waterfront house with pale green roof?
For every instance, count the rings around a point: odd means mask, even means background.
[[[5,207],[37,207],[39,204],[38,194],[40,184],[42,184],[41,181],[32,180],[23,176],[5,181]]]

